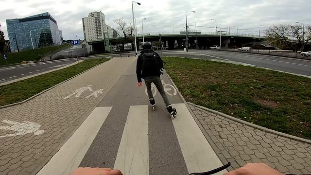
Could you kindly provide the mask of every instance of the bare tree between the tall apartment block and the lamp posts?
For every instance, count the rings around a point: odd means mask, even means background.
[[[128,26],[124,18],[114,19],[114,22],[118,24],[117,35],[119,37],[119,42],[122,44],[122,52],[124,52],[124,45],[127,42],[133,42],[133,28]]]

